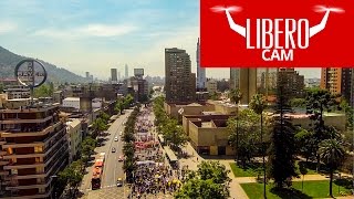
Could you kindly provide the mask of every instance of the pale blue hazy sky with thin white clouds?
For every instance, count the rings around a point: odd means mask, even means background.
[[[1,0],[0,45],[107,80],[128,64],[164,76],[164,49],[186,49],[196,71],[199,0]],[[320,77],[320,70],[302,70]],[[229,70],[207,70],[229,77]]]

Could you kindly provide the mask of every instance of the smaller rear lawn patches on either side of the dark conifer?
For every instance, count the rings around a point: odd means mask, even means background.
[[[308,175],[315,175],[317,174],[315,170],[315,166],[313,168],[313,164],[305,164],[304,161],[296,161],[295,166],[298,168],[298,172],[299,171],[299,164],[304,164],[305,167],[308,168]],[[257,177],[257,170],[262,168],[262,164],[261,163],[253,163],[253,164],[248,164],[246,169],[239,167],[238,165],[236,165],[235,163],[230,163],[230,167],[231,170],[233,172],[235,177]],[[261,172],[263,174],[263,172]]]

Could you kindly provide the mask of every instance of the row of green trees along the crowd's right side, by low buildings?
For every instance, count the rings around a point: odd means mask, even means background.
[[[176,119],[167,116],[164,111],[164,101],[163,96],[154,100],[155,126],[163,133],[165,142],[169,143],[171,149],[179,151],[179,147],[188,142],[188,136]]]

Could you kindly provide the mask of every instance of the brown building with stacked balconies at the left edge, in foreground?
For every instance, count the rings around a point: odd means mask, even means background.
[[[69,160],[59,105],[17,100],[0,106],[0,198],[52,198]]]

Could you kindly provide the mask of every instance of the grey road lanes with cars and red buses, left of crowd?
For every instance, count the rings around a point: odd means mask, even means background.
[[[126,122],[131,113],[132,109],[126,109],[124,115],[118,116],[118,118],[116,118],[112,123],[112,125],[107,129],[107,133],[110,135],[106,135],[105,137],[102,136],[101,138],[104,140],[102,142],[101,146],[95,149],[96,154],[106,153],[102,177],[102,188],[116,187],[117,178],[124,179],[124,171],[122,169],[123,161],[118,161],[118,157],[123,155],[123,143],[119,136],[119,132],[124,130],[123,123]],[[116,136],[119,138],[118,142],[114,142],[114,137]],[[115,153],[112,153],[113,147],[116,148]],[[95,156],[96,155],[94,155],[93,157]],[[86,174],[80,187],[82,192],[87,193],[88,191],[91,191],[91,178],[92,166],[86,168]],[[117,189],[122,189],[123,192],[123,188]]]

